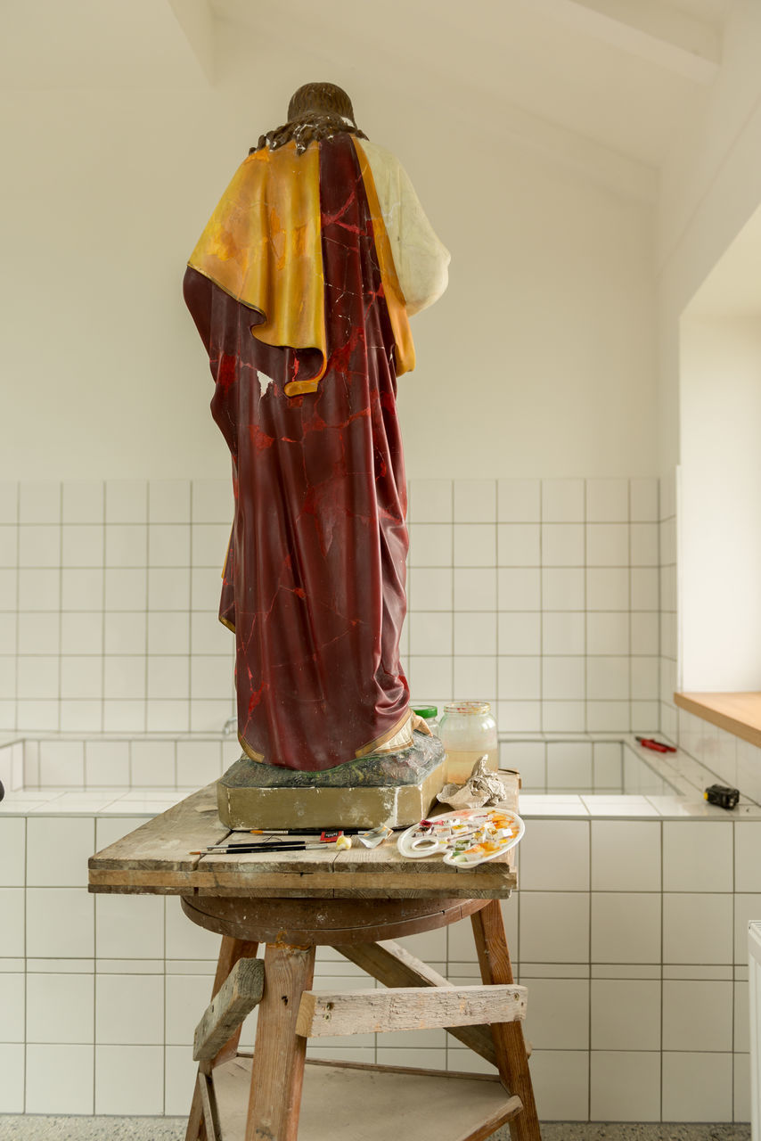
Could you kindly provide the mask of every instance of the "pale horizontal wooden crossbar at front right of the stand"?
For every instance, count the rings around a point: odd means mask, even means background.
[[[296,1033],[324,1035],[428,1030],[444,1026],[515,1022],[526,1017],[519,986],[395,987],[389,990],[305,990]]]

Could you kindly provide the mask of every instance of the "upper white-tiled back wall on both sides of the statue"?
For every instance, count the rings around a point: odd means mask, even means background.
[[[415,699],[503,731],[658,728],[657,479],[413,480]],[[219,730],[227,480],[0,486],[0,729]],[[663,525],[662,525],[663,529]]]

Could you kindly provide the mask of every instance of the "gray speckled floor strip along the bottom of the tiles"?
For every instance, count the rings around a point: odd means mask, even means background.
[[[508,1141],[507,1130],[493,1141]],[[542,1141],[750,1141],[750,1125],[586,1125],[552,1122]],[[180,1117],[0,1116],[0,1141],[184,1141]],[[358,1141],[361,1139],[358,1138]]]

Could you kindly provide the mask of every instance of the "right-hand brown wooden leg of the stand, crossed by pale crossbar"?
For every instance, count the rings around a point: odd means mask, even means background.
[[[473,925],[481,981],[487,985],[513,982],[500,900],[489,900],[486,907],[470,916],[470,922]],[[524,1106],[523,1112],[510,1122],[510,1136],[512,1141],[541,1141],[523,1022],[493,1022],[492,1035],[500,1077],[508,1092],[517,1094]]]

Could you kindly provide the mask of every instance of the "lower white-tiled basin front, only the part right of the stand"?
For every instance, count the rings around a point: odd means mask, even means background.
[[[532,822],[520,849],[518,955],[542,1116],[747,1118],[745,919],[761,906],[751,855],[759,828]],[[706,892],[707,850],[717,861]],[[543,873],[533,866],[540,852]],[[552,875],[561,853],[562,882]],[[752,899],[734,895],[739,883]]]

